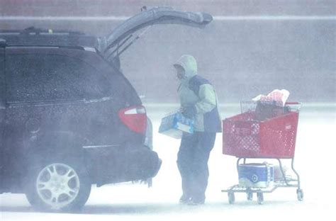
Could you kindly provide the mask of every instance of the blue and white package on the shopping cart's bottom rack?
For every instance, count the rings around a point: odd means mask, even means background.
[[[239,164],[239,185],[267,188],[274,185],[274,166],[271,164]]]

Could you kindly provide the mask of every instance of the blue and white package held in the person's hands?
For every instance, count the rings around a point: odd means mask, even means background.
[[[162,118],[159,133],[181,139],[183,132],[194,132],[194,120],[185,118],[180,112],[174,112]]]

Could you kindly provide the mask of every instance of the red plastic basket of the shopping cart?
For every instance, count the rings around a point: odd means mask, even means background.
[[[293,158],[298,112],[264,121],[254,111],[223,120],[223,154],[245,158]]]

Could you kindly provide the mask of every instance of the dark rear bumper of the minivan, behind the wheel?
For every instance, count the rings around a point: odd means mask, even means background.
[[[157,175],[162,161],[148,147],[88,149],[86,165],[98,186],[107,183],[146,180]]]

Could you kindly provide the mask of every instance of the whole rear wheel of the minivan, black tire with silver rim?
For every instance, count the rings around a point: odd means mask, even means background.
[[[86,201],[89,198],[91,192],[91,181],[89,180],[89,176],[86,172],[84,165],[78,160],[72,159],[54,159],[54,160],[45,160],[44,163],[33,163],[30,164],[30,169],[28,169],[28,176],[26,176],[26,198],[29,203],[33,205],[38,210],[50,211],[50,212],[73,212],[81,209]],[[63,186],[60,185],[61,181],[54,182],[52,181],[52,177],[54,175],[49,174],[49,180],[47,179],[48,170],[52,171],[56,170],[55,176],[58,176],[62,179],[62,177],[66,177],[67,179],[62,180]],[[66,171],[69,169],[69,171]],[[72,171],[70,172],[70,170]],[[62,174],[61,171],[65,174]],[[60,175],[61,174],[61,175]],[[58,178],[57,177],[57,178]],[[43,180],[45,179],[45,180]],[[45,183],[49,183],[49,188],[38,190],[38,188],[43,187],[45,184],[40,184],[45,181]],[[53,185],[51,185],[51,184]],[[57,185],[55,185],[57,183]],[[45,185],[47,186],[47,185]],[[50,187],[53,186],[53,187]],[[71,187],[70,187],[71,186]],[[60,193],[61,188],[67,188],[68,193]],[[53,197],[53,193],[57,188],[59,196]],[[52,191],[51,191],[52,190]],[[69,194],[72,192],[71,194]],[[55,193],[55,192],[54,192]],[[50,195],[51,201],[63,200],[60,203],[53,203],[48,201],[48,195]]]

